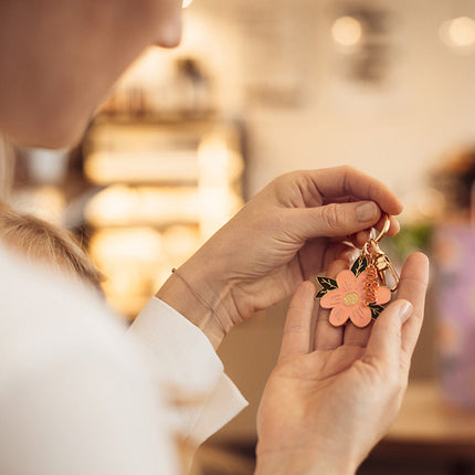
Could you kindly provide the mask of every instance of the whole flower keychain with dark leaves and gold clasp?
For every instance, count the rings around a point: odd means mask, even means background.
[[[351,270],[341,271],[336,279],[317,277],[323,288],[315,298],[321,299],[323,308],[331,308],[329,321],[332,326],[339,327],[350,319],[357,327],[366,327],[386,308],[391,292],[398,288],[398,273],[379,246],[390,225],[389,215],[386,215],[382,231],[363,245]],[[388,273],[393,281],[391,287],[387,282]]]

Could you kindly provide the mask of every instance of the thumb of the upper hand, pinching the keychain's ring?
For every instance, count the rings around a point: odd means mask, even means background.
[[[377,224],[381,210],[372,201],[330,203],[317,208],[292,210],[295,229],[304,239],[341,238]]]

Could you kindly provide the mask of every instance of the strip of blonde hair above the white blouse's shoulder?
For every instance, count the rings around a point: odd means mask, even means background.
[[[103,293],[103,274],[89,261],[73,234],[31,214],[0,203],[0,235],[7,245],[28,258],[68,271]]]

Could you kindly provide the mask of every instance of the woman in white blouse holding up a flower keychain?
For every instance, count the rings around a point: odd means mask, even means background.
[[[0,23],[0,129],[59,148],[80,140],[145,48],[179,43],[181,1],[3,0]],[[401,403],[428,262],[408,258],[397,302],[372,327],[334,328],[320,312],[312,351],[305,281],[347,266],[342,241],[361,246],[382,213],[401,211],[384,184],[350,168],[279,177],[170,276],[128,331],[96,295],[0,249],[0,472],[180,473],[173,433],[199,444],[245,405],[214,349],[296,291],[260,408],[256,471],[353,473]],[[197,403],[181,410],[167,402],[190,398]]]

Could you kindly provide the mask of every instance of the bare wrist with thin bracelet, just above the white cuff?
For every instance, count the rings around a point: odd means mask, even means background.
[[[214,349],[234,325],[231,288],[209,265],[188,261],[156,295],[200,328]]]

